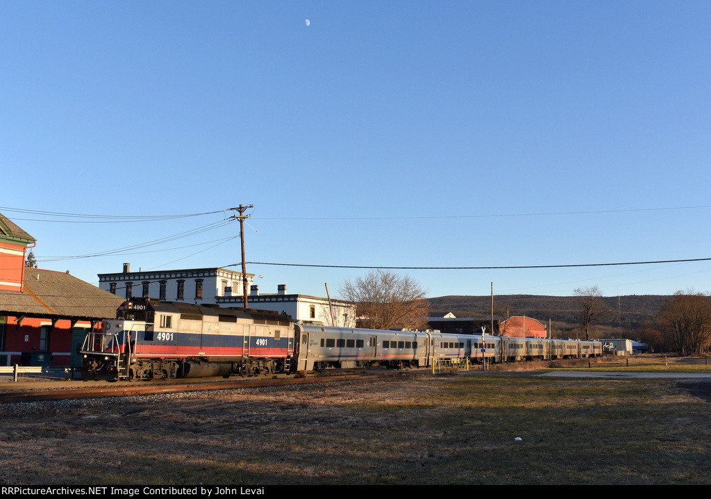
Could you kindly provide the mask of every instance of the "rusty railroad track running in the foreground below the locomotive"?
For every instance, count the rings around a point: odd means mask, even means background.
[[[210,390],[232,390],[242,388],[260,387],[285,387],[298,384],[317,384],[338,381],[353,381],[362,379],[377,379],[383,377],[402,378],[410,373],[407,372],[355,372],[350,374],[328,374],[303,378],[279,378],[279,379],[240,379],[238,381],[220,382],[193,382],[176,384],[151,384],[151,385],[122,385],[120,387],[92,387],[87,389],[50,389],[34,390],[31,392],[6,392],[0,393],[0,403],[3,402],[29,402],[45,400],[65,400],[65,399],[90,399],[109,396],[136,396],[169,394],[179,392],[207,392]]]

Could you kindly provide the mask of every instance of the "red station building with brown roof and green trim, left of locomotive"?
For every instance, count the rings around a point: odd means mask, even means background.
[[[69,273],[26,268],[35,240],[0,214],[0,365],[79,365],[78,348],[122,298]]]

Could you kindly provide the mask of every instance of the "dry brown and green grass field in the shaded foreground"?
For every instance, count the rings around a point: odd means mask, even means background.
[[[5,404],[0,482],[711,483],[708,382],[532,374]]]

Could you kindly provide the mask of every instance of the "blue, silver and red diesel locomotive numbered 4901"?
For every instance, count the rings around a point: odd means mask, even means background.
[[[294,322],[267,310],[127,300],[82,345],[85,379],[289,372]]]

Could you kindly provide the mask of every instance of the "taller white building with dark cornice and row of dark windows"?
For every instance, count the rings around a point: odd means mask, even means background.
[[[254,274],[247,274],[247,286]],[[158,298],[188,303],[217,303],[225,295],[242,296],[242,273],[226,268],[184,268],[181,270],[124,271],[99,274],[99,288],[124,298]]]

